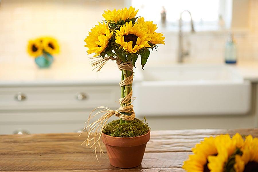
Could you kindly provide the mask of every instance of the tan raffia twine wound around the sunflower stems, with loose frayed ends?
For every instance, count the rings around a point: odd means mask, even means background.
[[[115,58],[112,56],[109,57],[104,57],[99,59],[99,57],[94,57],[91,58],[94,59],[91,62],[91,66],[95,67],[94,69],[97,69],[97,71],[100,71],[101,68],[108,62],[108,60],[116,60],[116,63],[118,65],[118,69],[120,69],[120,71],[125,70],[125,71],[132,71],[133,72],[133,65],[131,61],[128,62],[122,62],[120,60],[120,58]],[[132,75],[126,77],[125,79],[123,79],[119,85],[120,87],[131,87],[128,85],[132,85],[133,83],[133,76],[134,73],[132,73]],[[118,118],[125,120],[125,121],[130,121],[133,120],[135,118],[135,113],[134,113],[134,109],[133,109],[133,105],[130,103],[130,101],[133,101],[135,98],[132,98],[132,90],[125,96],[119,99],[119,103],[120,104],[124,104],[122,106],[120,106],[117,110],[112,110],[108,107],[105,106],[99,106],[95,109],[93,109],[91,111],[91,113],[89,114],[89,118],[85,121],[84,123],[84,128],[81,131],[80,135],[82,134],[83,131],[86,131],[88,136],[86,138],[86,140],[82,143],[82,144],[86,144],[86,146],[91,145],[91,148],[94,147],[92,152],[95,152],[97,161],[98,157],[97,157],[97,148],[99,147],[100,150],[100,154],[103,153],[103,149],[102,149],[102,141],[101,141],[101,135],[103,133],[104,127],[107,124],[108,119],[115,115]],[[94,115],[93,112],[95,112],[96,110],[99,110],[98,112],[96,112]],[[131,114],[131,115],[125,115],[125,114]],[[102,114],[102,116],[96,120],[95,122],[92,122],[91,124],[89,123],[89,121],[94,118],[95,116]],[[79,136],[80,136],[79,135]],[[91,141],[93,140],[93,144],[91,144]]]

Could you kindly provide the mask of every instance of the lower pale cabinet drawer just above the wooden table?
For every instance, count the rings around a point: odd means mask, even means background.
[[[0,113],[0,134],[13,134],[16,130],[26,130],[30,133],[76,132],[84,128],[84,122],[88,119],[90,112],[91,110],[2,112]],[[100,115],[95,116],[91,122],[99,117]],[[117,117],[112,116],[109,121],[117,119]]]

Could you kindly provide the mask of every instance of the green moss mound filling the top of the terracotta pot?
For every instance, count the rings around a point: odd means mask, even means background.
[[[146,119],[143,122],[143,120],[135,118],[122,124],[119,120],[114,120],[105,126],[103,133],[113,137],[136,137],[146,134],[149,130]]]

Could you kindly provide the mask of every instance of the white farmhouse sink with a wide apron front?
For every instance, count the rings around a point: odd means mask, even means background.
[[[226,65],[146,67],[134,84],[140,116],[246,114],[251,84]]]

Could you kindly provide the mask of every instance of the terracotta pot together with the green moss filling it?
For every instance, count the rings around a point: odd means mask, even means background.
[[[112,121],[102,134],[110,164],[118,168],[139,166],[149,140],[148,124],[136,118],[122,124],[119,120]]]

